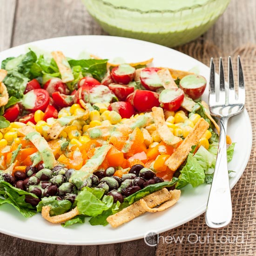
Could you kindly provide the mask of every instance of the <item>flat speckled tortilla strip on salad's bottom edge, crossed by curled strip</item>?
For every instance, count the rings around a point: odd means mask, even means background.
[[[143,200],[147,203],[148,207],[153,208],[163,202],[168,201],[171,198],[171,194],[167,189],[158,190],[152,194],[143,197]],[[123,223],[129,222],[136,217],[145,213],[146,210],[141,206],[141,202],[137,201],[122,209],[120,212],[114,215],[108,216],[107,222],[111,224],[113,228],[120,226]]]

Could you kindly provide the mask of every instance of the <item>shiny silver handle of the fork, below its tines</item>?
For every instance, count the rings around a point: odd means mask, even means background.
[[[206,224],[213,229],[227,226],[232,219],[226,145],[228,120],[228,117],[220,118],[218,154],[205,214]]]

